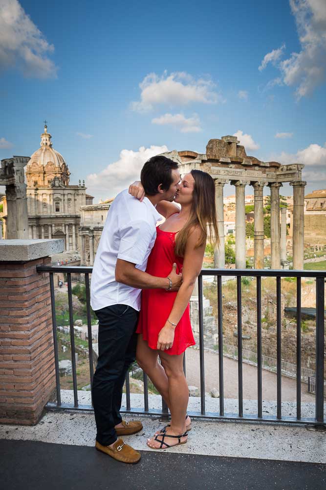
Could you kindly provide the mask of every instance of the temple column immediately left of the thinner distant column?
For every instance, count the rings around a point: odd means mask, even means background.
[[[271,189],[271,269],[281,269],[280,247],[280,187],[279,182],[269,184]]]

